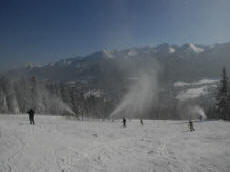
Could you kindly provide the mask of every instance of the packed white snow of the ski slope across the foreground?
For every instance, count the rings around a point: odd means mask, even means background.
[[[0,172],[229,172],[230,123],[0,115]]]

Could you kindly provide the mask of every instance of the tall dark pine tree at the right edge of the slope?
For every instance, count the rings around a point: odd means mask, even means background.
[[[218,92],[216,96],[216,112],[220,119],[227,120],[229,112],[229,93],[228,93],[228,77],[225,67],[222,70],[222,79],[218,86]]]

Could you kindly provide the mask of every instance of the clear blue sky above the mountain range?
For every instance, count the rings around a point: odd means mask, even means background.
[[[0,0],[1,68],[105,48],[228,41],[229,0]]]

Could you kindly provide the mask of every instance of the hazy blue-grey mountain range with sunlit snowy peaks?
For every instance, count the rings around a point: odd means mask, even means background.
[[[85,57],[63,59],[43,66],[29,65],[11,70],[7,75],[36,76],[39,79],[56,81],[101,80],[113,78],[119,73],[127,74],[132,70],[130,68],[139,68],[139,65],[154,59],[161,66],[160,79],[192,81],[204,77],[219,77],[223,66],[230,67],[229,54],[230,43],[209,46],[164,43],[157,47],[103,50]]]

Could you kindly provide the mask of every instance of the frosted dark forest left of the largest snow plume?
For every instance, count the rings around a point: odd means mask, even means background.
[[[111,101],[104,96],[86,94],[88,90],[79,83],[0,77],[0,113],[26,113],[32,108],[40,114],[105,118],[109,109],[113,109]]]

